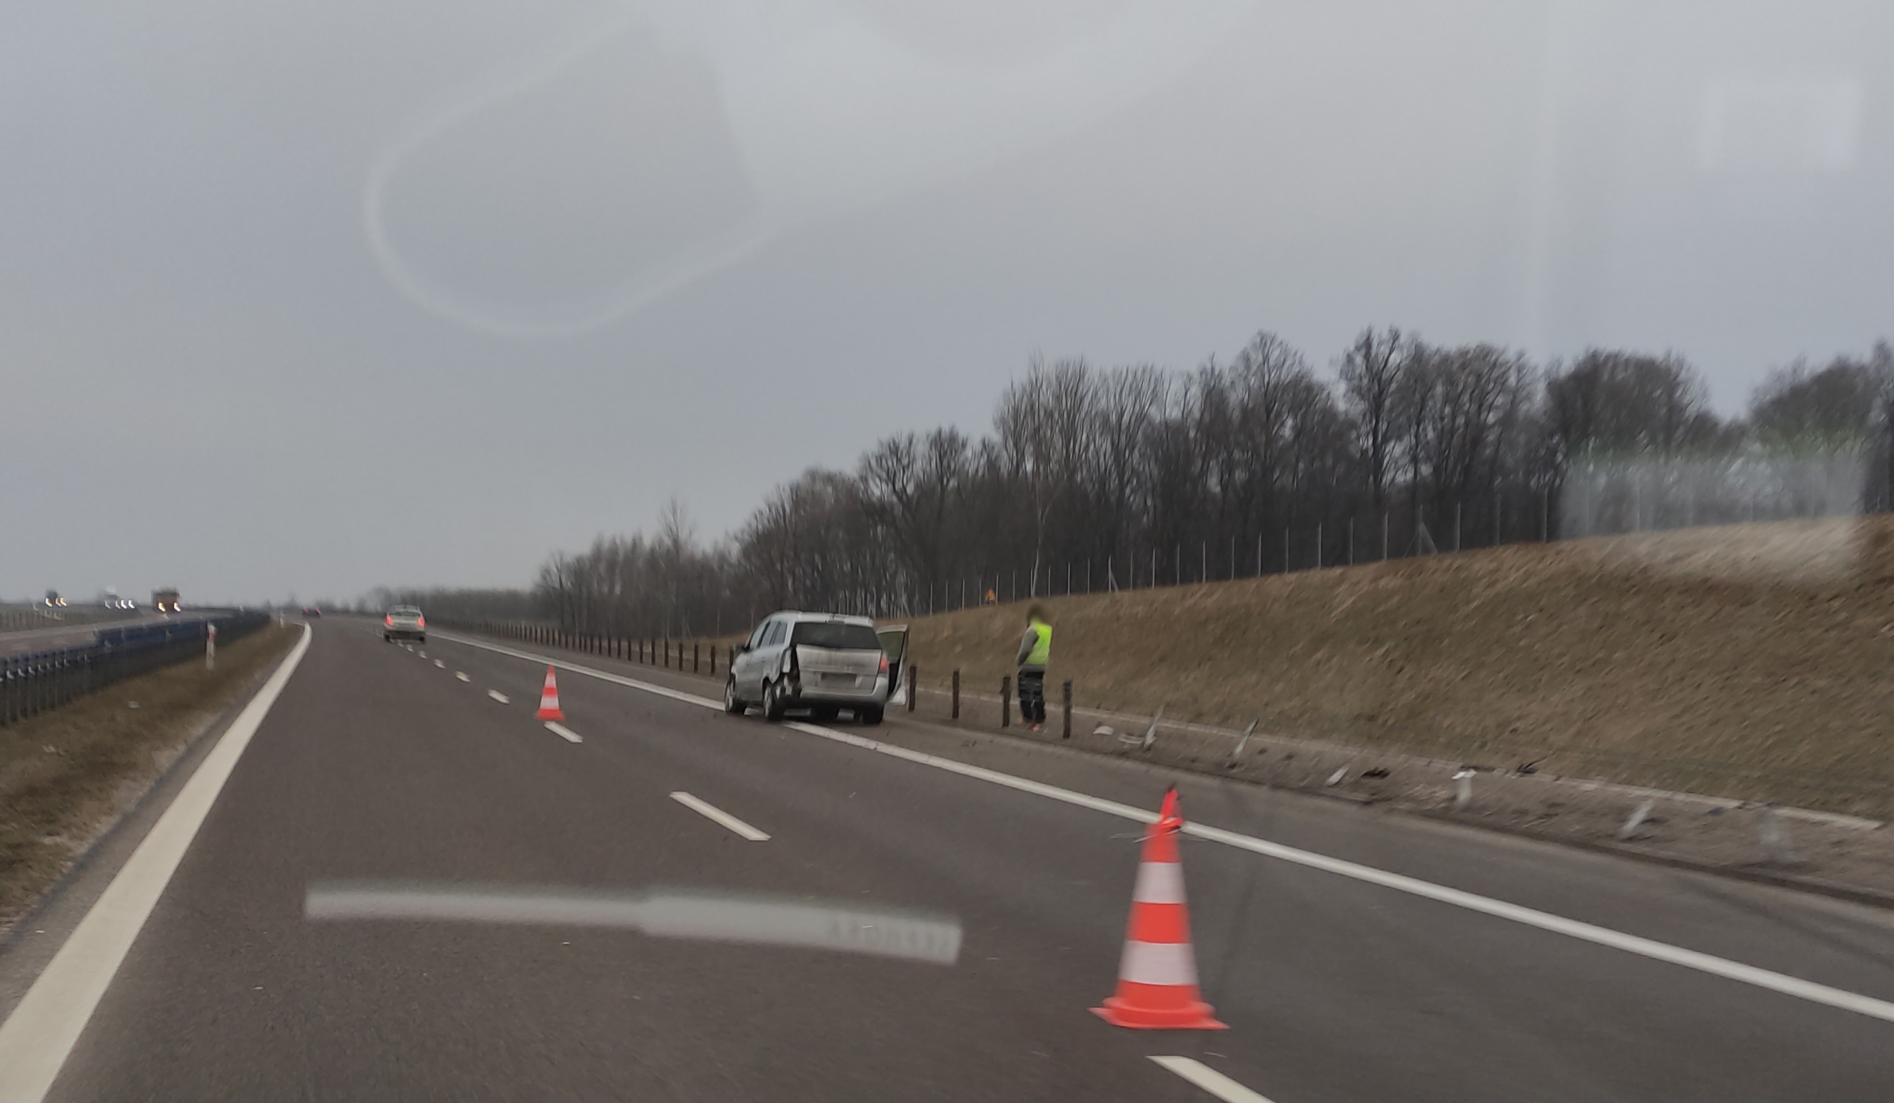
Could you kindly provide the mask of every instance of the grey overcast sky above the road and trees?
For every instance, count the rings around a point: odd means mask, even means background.
[[[1032,353],[1894,334],[1894,4],[0,9],[0,595],[527,584]]]

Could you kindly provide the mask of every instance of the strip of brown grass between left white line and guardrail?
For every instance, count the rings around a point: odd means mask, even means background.
[[[214,671],[186,660],[0,728],[0,929],[117,823],[301,631],[271,624],[220,646]]]

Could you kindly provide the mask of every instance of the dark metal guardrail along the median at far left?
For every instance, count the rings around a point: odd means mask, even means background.
[[[112,682],[205,654],[208,627],[239,641],[269,624],[267,612],[233,610],[188,622],[102,627],[89,644],[0,658],[0,726],[64,705]]]

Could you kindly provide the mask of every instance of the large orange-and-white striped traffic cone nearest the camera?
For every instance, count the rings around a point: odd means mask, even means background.
[[[1178,790],[1165,790],[1157,823],[1144,834],[1138,885],[1131,891],[1131,929],[1117,965],[1117,995],[1091,1012],[1114,1027],[1142,1031],[1222,1031],[1197,995],[1197,955],[1189,948],[1184,866],[1178,862]]]

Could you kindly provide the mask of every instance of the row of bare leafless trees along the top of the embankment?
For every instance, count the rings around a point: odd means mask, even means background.
[[[884,438],[852,472],[777,487],[714,544],[672,502],[655,536],[553,553],[530,593],[407,597],[443,616],[703,635],[773,608],[909,616],[1837,502],[1881,510],[1890,415],[1885,341],[1777,370],[1725,421],[1674,354],[1600,349],[1538,368],[1496,345],[1371,328],[1320,371],[1258,334],[1191,371],[1034,362],[985,436]]]

